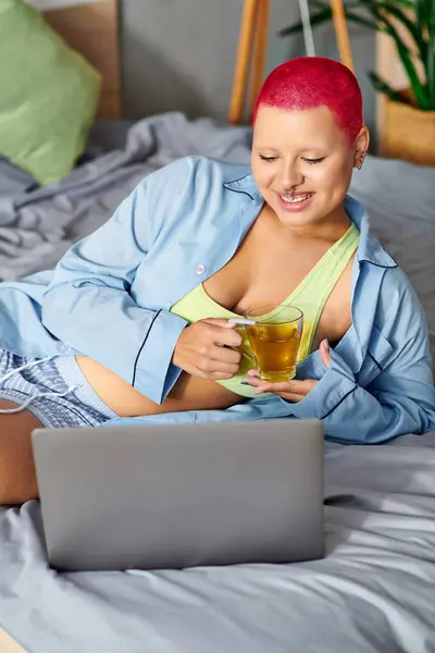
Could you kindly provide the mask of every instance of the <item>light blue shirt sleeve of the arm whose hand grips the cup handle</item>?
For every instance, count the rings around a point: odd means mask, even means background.
[[[51,333],[158,404],[181,373],[171,360],[187,322],[138,306],[130,287],[189,174],[179,160],[147,176],[103,226],[61,259],[42,300],[42,323]]]

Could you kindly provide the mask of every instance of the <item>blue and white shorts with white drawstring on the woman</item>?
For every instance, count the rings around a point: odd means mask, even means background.
[[[50,396],[35,396],[42,393]],[[0,349],[0,398],[22,406],[29,397],[35,398],[27,409],[46,428],[99,427],[117,417],[89,385],[74,356],[38,361]]]

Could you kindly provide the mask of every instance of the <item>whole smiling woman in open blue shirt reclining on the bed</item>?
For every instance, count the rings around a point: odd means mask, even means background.
[[[347,196],[361,106],[341,64],[289,61],[260,95],[251,165],[175,161],[53,273],[0,285],[0,399],[17,405],[0,409],[0,502],[35,494],[32,414],[47,428],[315,418],[358,443],[435,428],[420,303]],[[282,304],[303,312],[297,374],[264,386],[231,320]]]

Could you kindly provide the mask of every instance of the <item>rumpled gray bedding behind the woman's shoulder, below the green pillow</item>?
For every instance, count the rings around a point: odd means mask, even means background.
[[[100,125],[101,127],[101,125]],[[95,130],[90,153],[120,138]],[[30,176],[0,161],[0,279],[53,267],[71,245],[100,226],[148,173],[186,155],[249,161],[250,131],[188,122],[181,113],[146,119],[127,132],[124,149],[83,163],[65,180],[37,188]],[[105,149],[105,148],[104,148]]]

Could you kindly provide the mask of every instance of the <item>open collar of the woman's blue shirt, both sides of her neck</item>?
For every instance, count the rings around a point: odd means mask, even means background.
[[[236,193],[246,193],[252,200],[262,201],[262,196],[257,188],[251,173],[247,172],[247,165],[232,168],[232,178],[224,182],[225,188]],[[357,225],[360,232],[360,243],[357,251],[357,259],[368,261],[380,268],[397,268],[396,261],[389,256],[381,243],[370,233],[369,213],[364,207],[349,195],[345,198],[345,210],[350,220]]]

